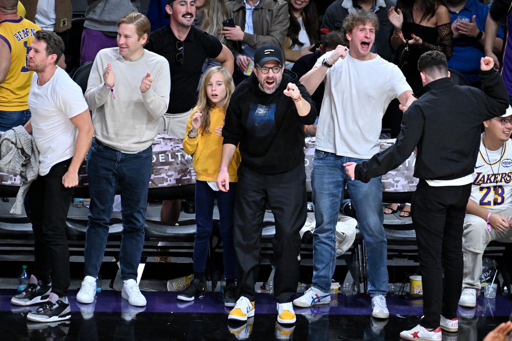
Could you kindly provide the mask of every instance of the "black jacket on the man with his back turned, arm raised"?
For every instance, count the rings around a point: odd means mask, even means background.
[[[398,167],[418,147],[414,176],[452,180],[473,174],[482,122],[508,108],[505,83],[494,70],[480,72],[482,91],[437,79],[421,90],[403,114],[395,144],[355,167],[355,179],[368,182]]]

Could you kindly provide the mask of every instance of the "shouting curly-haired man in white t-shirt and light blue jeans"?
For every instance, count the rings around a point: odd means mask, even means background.
[[[381,120],[391,100],[409,106],[412,90],[398,67],[372,53],[378,29],[374,13],[358,11],[344,21],[349,47],[338,46],[318,58],[301,78],[309,93],[325,81],[324,101],[316,131],[311,182],[316,228],[313,233],[313,286],[294,305],[329,304],[336,266],[335,227],[345,185],[365,239],[368,293],[372,316],[388,318],[387,241],[383,227],[380,177],[369,183],[350,181],[343,164],[360,163],[378,153]]]

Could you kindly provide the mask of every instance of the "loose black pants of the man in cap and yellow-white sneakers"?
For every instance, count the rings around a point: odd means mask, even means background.
[[[241,166],[234,204],[233,243],[239,264],[239,295],[254,301],[260,268],[262,222],[268,201],[275,219],[272,240],[275,274],[274,297],[291,302],[297,291],[301,237],[306,222],[304,164],[281,174],[262,174]]]

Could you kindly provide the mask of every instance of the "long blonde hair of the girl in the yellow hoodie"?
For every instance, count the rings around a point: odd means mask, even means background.
[[[201,124],[199,125],[199,131],[202,135],[210,133],[210,108],[213,106],[213,103],[210,102],[206,89],[211,77],[217,72],[220,72],[222,75],[222,78],[224,79],[224,87],[226,87],[226,97],[224,97],[224,99],[221,101],[224,113],[227,110],[229,99],[231,98],[231,95],[234,91],[233,77],[226,68],[213,67],[206,71],[206,74],[203,77],[203,82],[201,83],[201,88],[199,88],[199,98],[195,109],[195,112],[200,112],[203,114],[201,117]]]

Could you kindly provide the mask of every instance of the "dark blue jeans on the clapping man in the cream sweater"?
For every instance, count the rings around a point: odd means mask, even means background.
[[[84,250],[84,271],[96,277],[103,262],[117,189],[121,194],[123,232],[119,255],[121,279],[135,280],[144,244],[147,187],[151,177],[151,146],[126,154],[94,139],[87,157],[91,206]]]

